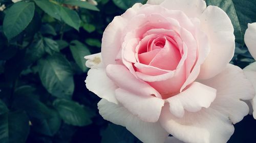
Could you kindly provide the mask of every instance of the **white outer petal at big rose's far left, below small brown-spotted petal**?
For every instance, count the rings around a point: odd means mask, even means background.
[[[100,98],[110,102],[118,103],[115,97],[116,84],[106,76],[104,69],[90,69],[86,78],[86,87]]]

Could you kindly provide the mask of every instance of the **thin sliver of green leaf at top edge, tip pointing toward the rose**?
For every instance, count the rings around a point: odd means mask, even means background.
[[[88,2],[77,1],[77,0],[65,0],[63,1],[63,3],[68,5],[78,6],[78,7],[89,9],[89,10],[99,11],[99,9],[96,6],[93,6]]]

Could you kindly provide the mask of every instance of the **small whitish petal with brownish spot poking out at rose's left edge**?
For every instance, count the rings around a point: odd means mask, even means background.
[[[101,58],[101,52],[84,56],[84,59],[87,60],[86,66],[88,68],[96,68],[96,69],[104,68],[104,65],[102,63],[102,58]]]

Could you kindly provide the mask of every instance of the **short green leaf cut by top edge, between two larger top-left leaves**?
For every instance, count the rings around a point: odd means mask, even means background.
[[[59,7],[60,6],[58,6],[54,3],[51,3],[49,1],[34,0],[34,2],[44,12],[46,12],[50,16],[60,20],[60,15],[59,15]]]

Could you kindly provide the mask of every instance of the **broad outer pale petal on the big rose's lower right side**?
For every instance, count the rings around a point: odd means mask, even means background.
[[[248,115],[249,108],[244,100],[252,99],[254,90],[242,69],[228,64],[217,76],[200,82],[217,90],[211,108],[229,117],[232,123],[236,124]]]

